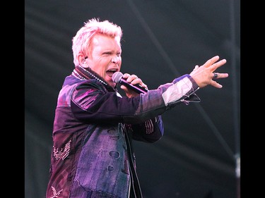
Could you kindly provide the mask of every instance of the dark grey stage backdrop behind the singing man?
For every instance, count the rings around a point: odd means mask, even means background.
[[[145,198],[238,198],[240,193],[240,1],[26,0],[25,197],[44,198],[57,94],[73,70],[71,39],[90,18],[124,31],[122,72],[149,89],[219,55],[222,89],[206,87],[199,104],[163,114],[165,136],[135,142]],[[239,161],[238,161],[239,162]]]

